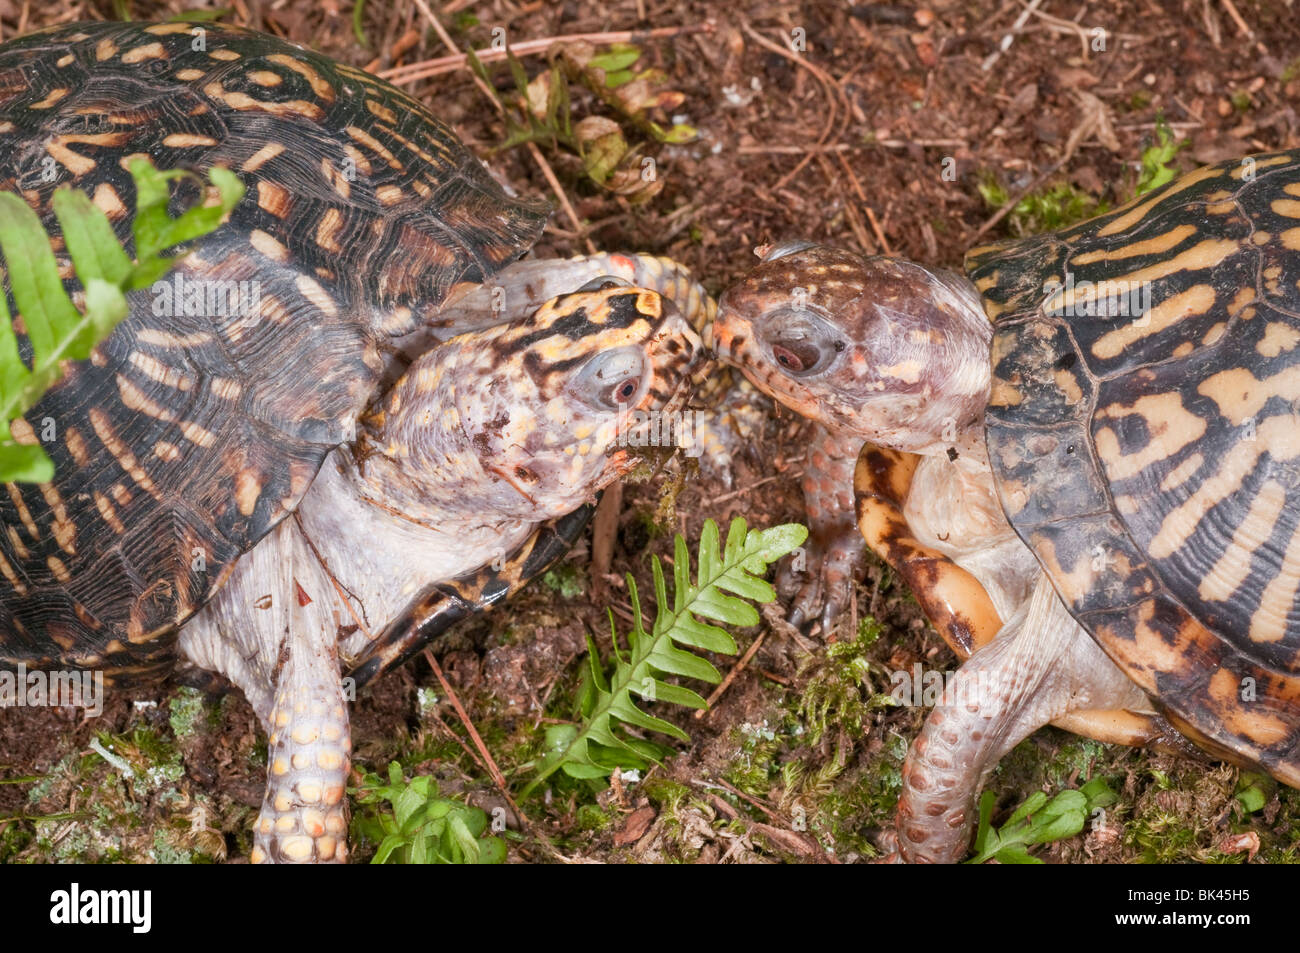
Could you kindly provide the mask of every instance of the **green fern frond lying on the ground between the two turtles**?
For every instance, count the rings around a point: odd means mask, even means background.
[[[636,580],[629,573],[627,580],[633,623],[627,636],[627,649],[619,647],[618,627],[611,611],[614,671],[606,675],[595,641],[588,634],[589,664],[577,702],[580,720],[576,724],[552,725],[546,731],[537,775],[524,793],[560,768],[572,777],[607,777],[615,767],[644,768],[667,750],[651,741],[630,737],[627,731],[616,727],[618,722],[680,741],[689,740],[677,725],[638,709],[632,696],[637,694],[649,702],[706,707],[698,693],[663,679],[679,675],[718,684],[722,676],[710,662],[677,646],[734,655],[734,640],[724,629],[702,619],[731,625],[757,625],[758,611],[749,602],[762,603],[776,598],[776,592],[762,579],[762,573],[805,538],[807,529],[797,523],[750,530],[745,520],[737,517],[732,520],[727,542],[719,550],[718,524],[706,520],[699,534],[698,582],[692,584],[690,551],[679,534],[673,550],[671,602],[658,556],[651,562],[658,610],[649,632],[642,624]]]

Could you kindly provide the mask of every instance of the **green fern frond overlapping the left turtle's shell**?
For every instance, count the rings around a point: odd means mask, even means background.
[[[49,237],[30,205],[13,192],[0,192],[0,250],[13,302],[31,345],[31,365],[18,352],[9,306],[0,295],[0,481],[47,482],[55,464],[35,442],[18,442],[10,425],[62,376],[60,363],[84,360],[126,317],[126,293],[148,287],[179,256],[162,252],[216,229],[243,196],[234,173],[214,166],[208,173],[217,204],[200,204],[173,218],[168,182],[194,177],[182,170],[159,172],[143,157],[131,160],[135,220],[131,261],[113,226],[84,192],[64,186],[52,199],[55,217],[77,280],[84,289],[84,312],[77,309],[58,277]],[[30,439],[30,438],[29,438]]]

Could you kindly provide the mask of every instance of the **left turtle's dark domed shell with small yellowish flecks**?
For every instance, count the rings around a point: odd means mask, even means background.
[[[46,443],[53,482],[0,493],[0,664],[161,676],[178,627],[355,433],[398,360],[390,342],[523,254],[546,209],[508,198],[393,86],[211,23],[4,44],[0,144],[0,187],[55,235],[49,199],[72,183],[129,239],[138,153],[222,165],[247,187],[16,421]],[[198,198],[177,190],[176,211]]]

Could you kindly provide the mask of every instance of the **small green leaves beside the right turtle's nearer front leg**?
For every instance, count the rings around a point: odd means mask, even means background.
[[[967,863],[993,858],[1000,863],[1043,863],[1030,857],[1026,848],[1075,836],[1095,810],[1115,802],[1115,793],[1101,777],[1093,777],[1078,790],[1062,790],[1050,801],[1036,790],[996,831],[991,823],[994,800],[992,790],[980,797],[975,857]]]

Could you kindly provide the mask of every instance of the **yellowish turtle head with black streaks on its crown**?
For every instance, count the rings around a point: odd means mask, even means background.
[[[645,432],[684,413],[703,359],[672,302],[601,278],[422,355],[390,391],[376,442],[419,458],[438,484],[426,498],[550,519],[629,471],[632,447],[659,442]]]

